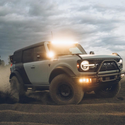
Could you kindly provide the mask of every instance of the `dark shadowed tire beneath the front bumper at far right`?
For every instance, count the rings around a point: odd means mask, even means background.
[[[119,93],[120,88],[121,88],[120,82],[116,82],[110,86],[96,90],[95,94],[103,98],[113,98]]]

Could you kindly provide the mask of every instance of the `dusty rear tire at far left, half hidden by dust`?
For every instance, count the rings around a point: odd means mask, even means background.
[[[25,95],[25,90],[23,85],[19,82],[16,76],[11,78],[10,82],[10,97],[13,102],[19,102]]]

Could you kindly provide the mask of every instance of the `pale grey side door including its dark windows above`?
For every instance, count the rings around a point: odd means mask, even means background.
[[[49,84],[47,79],[49,66],[45,54],[44,45],[25,50],[23,53],[24,69],[33,85]]]

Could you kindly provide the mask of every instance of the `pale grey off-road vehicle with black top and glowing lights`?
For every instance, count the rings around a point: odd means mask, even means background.
[[[78,43],[41,42],[11,56],[11,95],[18,102],[28,88],[49,90],[57,104],[78,104],[85,92],[114,97],[120,88],[122,58],[87,54]]]

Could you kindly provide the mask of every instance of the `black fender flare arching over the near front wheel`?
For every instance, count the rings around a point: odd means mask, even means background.
[[[51,72],[50,77],[49,77],[49,83],[51,83],[52,79],[53,79],[55,76],[57,76],[57,75],[59,75],[59,74],[63,74],[63,73],[67,74],[67,75],[70,76],[70,77],[75,77],[75,76],[76,76],[76,75],[74,74],[74,72],[73,72],[71,69],[69,69],[68,67],[66,67],[66,66],[58,66],[58,67],[56,67],[56,68]]]

